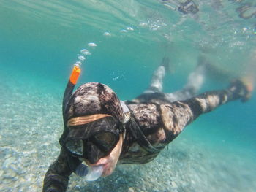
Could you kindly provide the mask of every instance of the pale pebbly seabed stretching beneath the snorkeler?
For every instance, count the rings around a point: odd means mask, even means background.
[[[62,88],[47,90],[22,81],[0,86],[2,192],[42,191],[44,174],[59,154]],[[255,191],[254,150],[192,134],[182,133],[154,161],[120,165],[96,182],[72,174],[68,191]]]

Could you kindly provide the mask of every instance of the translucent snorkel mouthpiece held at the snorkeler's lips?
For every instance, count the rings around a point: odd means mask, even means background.
[[[86,166],[85,164],[80,164],[75,170],[75,174],[79,177],[84,177],[86,181],[94,181],[102,176],[103,166]]]

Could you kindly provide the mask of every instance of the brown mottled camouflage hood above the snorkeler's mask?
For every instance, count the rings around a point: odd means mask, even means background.
[[[64,123],[74,117],[108,114],[121,121],[122,107],[116,93],[99,82],[81,85],[71,96],[64,112]]]

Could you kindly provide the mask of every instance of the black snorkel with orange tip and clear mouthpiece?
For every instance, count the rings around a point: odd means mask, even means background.
[[[75,88],[75,85],[78,81],[78,78],[80,76],[80,64],[81,62],[76,62],[74,64],[74,67],[72,69],[72,73],[70,74],[69,81],[67,82],[66,89],[64,91],[63,101],[62,101],[62,115],[64,118],[64,113],[67,110],[67,104],[69,102],[70,97],[72,96],[72,92]],[[64,119],[64,124],[66,120]],[[65,131],[67,131],[67,126],[65,125]],[[99,177],[101,177],[103,172],[103,166],[87,166],[86,164],[83,164],[83,160],[81,163],[75,168],[75,174],[77,174],[80,177],[84,177],[86,181],[94,181],[97,180]]]

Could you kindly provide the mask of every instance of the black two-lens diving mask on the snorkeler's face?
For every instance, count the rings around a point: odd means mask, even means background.
[[[81,117],[78,121],[81,124],[72,123],[72,126],[68,122],[69,134],[64,141],[64,146],[72,156],[95,164],[99,158],[109,155],[116,147],[122,132],[121,123],[110,115],[89,123],[84,123],[86,120],[81,120]]]

